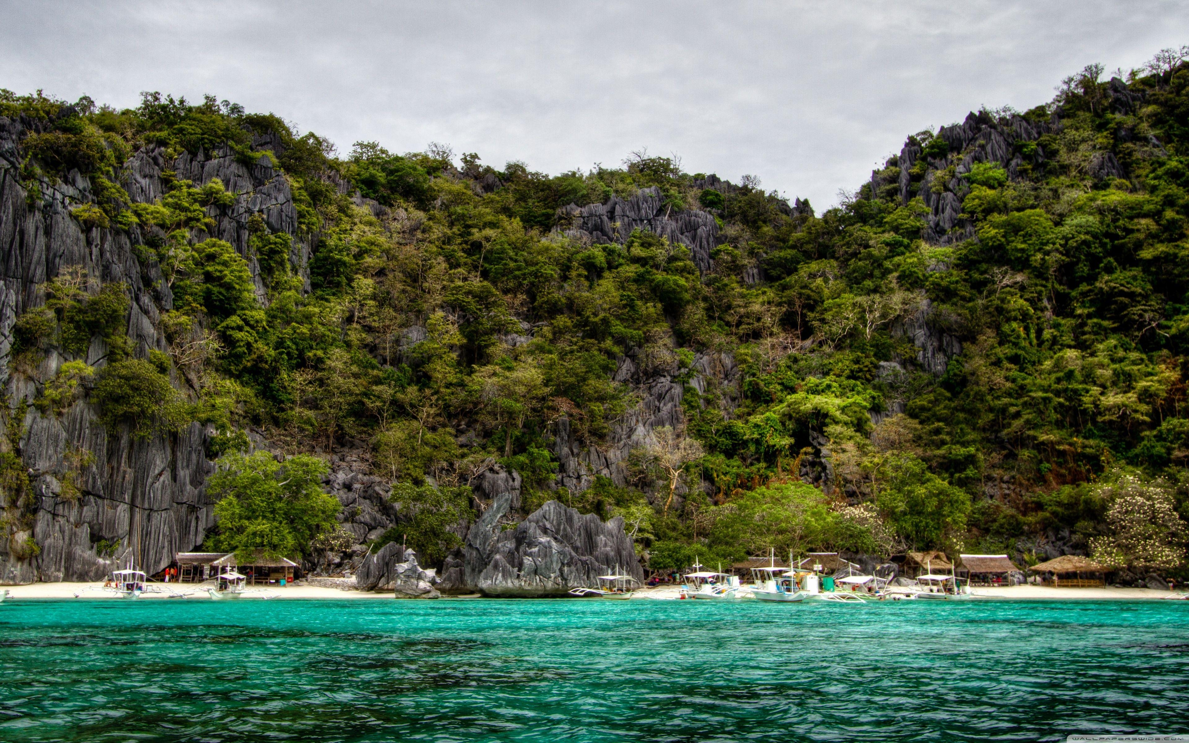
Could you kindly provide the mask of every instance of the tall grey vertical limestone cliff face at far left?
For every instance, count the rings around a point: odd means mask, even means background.
[[[101,369],[106,345],[94,339],[77,357],[50,348],[40,360],[14,365],[12,328],[21,314],[45,303],[48,281],[81,270],[92,291],[124,284],[130,345],[133,355],[144,358],[149,351],[168,351],[158,328],[162,313],[172,309],[172,296],[156,264],[141,264],[136,256],[134,245],[146,237],[140,228],[83,229],[73,219],[71,207],[93,199],[87,177],[71,172],[64,182],[42,181],[40,199],[26,201],[29,190],[12,163],[21,162],[19,143],[36,126],[0,117],[0,388],[10,410],[30,404],[14,449],[29,468],[32,490],[0,493],[0,512],[15,524],[0,534],[0,583],[96,580],[128,558],[153,573],[176,552],[199,544],[214,523],[205,490],[214,471],[206,456],[208,432],[195,423],[177,434],[136,439],[126,430],[105,429],[86,398],[58,415],[43,415],[31,403],[62,364],[84,360]],[[134,202],[151,202],[164,193],[163,170],[195,185],[219,177],[235,194],[229,207],[208,207],[214,226],[209,233],[196,231],[194,238],[216,237],[235,246],[263,298],[256,257],[247,246],[247,220],[260,214],[273,232],[296,235],[288,181],[266,160],[244,165],[226,149],[166,160],[159,147],[130,158],[120,181]],[[290,258],[300,273],[308,256],[308,245],[295,238]],[[90,452],[93,464],[71,465],[71,454],[80,452]],[[68,480],[75,487],[64,489]],[[36,555],[19,548],[30,536],[39,548]]]

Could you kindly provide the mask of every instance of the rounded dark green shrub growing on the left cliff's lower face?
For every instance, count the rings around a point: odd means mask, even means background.
[[[99,372],[92,402],[107,428],[127,426],[139,439],[155,430],[176,432],[189,411],[169,377],[143,359],[109,364]]]

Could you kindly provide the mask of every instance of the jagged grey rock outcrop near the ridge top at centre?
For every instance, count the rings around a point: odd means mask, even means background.
[[[642,188],[627,201],[612,196],[606,203],[570,204],[560,212],[570,220],[568,226],[560,227],[567,237],[593,244],[624,243],[633,231],[644,229],[673,245],[688,247],[703,273],[712,267],[710,252],[719,244],[713,215],[699,210],[673,212],[665,206],[665,197],[656,187]]]

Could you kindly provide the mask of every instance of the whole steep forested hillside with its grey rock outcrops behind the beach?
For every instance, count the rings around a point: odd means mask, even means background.
[[[547,176],[336,153],[213,96],[5,90],[0,559],[32,575],[57,540],[61,577],[147,539],[99,512],[145,456],[175,483],[161,544],[315,568],[402,540],[448,562],[499,476],[509,522],[622,516],[659,571],[943,548],[1177,574],[1184,56],[913,134],[822,214],[647,152]],[[390,517],[341,495],[360,477]]]

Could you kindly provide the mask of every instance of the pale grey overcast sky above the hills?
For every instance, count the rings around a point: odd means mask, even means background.
[[[1179,0],[0,0],[0,87],[18,93],[118,107],[140,90],[212,93],[342,155],[434,140],[549,174],[647,147],[819,212],[910,133],[1189,43]]]

